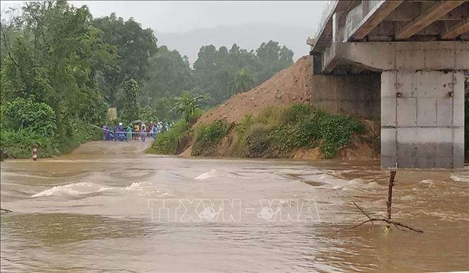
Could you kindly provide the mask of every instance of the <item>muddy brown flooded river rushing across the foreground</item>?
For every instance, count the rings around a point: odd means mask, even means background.
[[[386,212],[378,161],[184,159],[148,144],[1,162],[1,272],[469,270],[467,170],[398,171],[393,218],[424,233],[350,230],[366,220],[352,202]]]

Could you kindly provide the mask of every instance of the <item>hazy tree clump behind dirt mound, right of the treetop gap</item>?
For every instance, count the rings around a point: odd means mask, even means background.
[[[233,44],[231,49],[212,44],[201,47],[194,63],[195,92],[209,95],[209,104],[219,104],[236,92],[263,83],[293,63],[293,51],[278,42],[262,43],[257,51]],[[240,71],[243,71],[242,73]]]

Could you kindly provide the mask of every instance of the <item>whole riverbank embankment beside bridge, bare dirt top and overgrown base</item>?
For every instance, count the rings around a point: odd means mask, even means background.
[[[191,125],[179,121],[148,150],[181,157],[374,159],[379,122],[336,116],[310,104],[310,56]]]

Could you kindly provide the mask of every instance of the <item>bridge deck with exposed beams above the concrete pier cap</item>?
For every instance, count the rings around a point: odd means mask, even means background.
[[[329,1],[307,41],[314,54],[332,42],[469,40],[469,1]]]

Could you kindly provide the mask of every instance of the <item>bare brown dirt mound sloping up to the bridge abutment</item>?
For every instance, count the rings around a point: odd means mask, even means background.
[[[310,100],[312,79],[310,56],[303,56],[292,66],[276,73],[261,85],[233,95],[221,106],[204,113],[195,123],[211,123],[217,119],[239,123],[245,114],[257,115],[272,104],[295,104]]]

